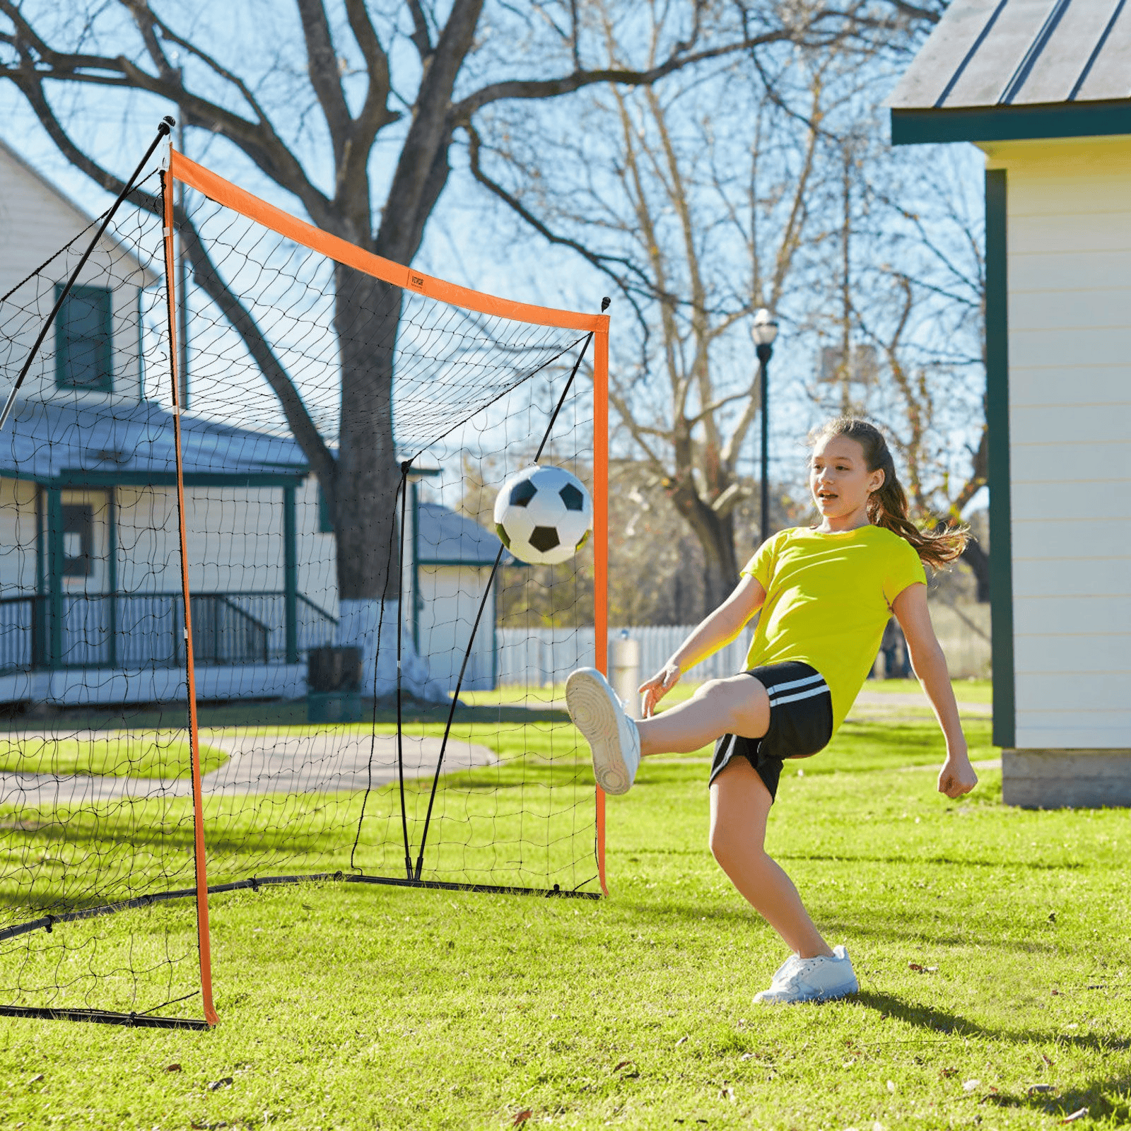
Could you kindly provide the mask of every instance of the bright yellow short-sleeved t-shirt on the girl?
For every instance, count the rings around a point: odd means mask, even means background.
[[[926,582],[915,547],[881,526],[822,534],[805,527],[768,538],[742,570],[766,590],[746,667],[801,661],[832,696],[832,733],[880,649],[891,603]]]

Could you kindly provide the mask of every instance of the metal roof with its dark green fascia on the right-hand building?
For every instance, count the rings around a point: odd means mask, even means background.
[[[1131,3],[953,0],[887,104],[897,145],[1131,133]]]

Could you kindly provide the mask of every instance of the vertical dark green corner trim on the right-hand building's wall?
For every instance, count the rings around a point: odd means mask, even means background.
[[[1013,547],[1009,472],[1009,293],[1007,182],[986,170],[986,428],[990,481],[990,642],[993,662],[993,741],[1012,746]]]

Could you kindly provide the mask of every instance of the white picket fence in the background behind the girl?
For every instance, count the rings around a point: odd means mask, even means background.
[[[955,610],[931,604],[931,619],[947,656],[953,679],[985,679],[990,675],[990,606],[972,605]],[[661,665],[687,639],[693,624],[659,624],[608,630],[610,642],[627,633],[640,641],[644,676]],[[593,629],[498,629],[498,679],[503,685],[543,687],[561,683],[575,667],[594,661]],[[696,681],[717,680],[741,672],[750,647],[750,632],[697,665],[689,676]]]

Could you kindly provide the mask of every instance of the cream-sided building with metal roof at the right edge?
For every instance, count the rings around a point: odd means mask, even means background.
[[[1131,5],[955,0],[892,141],[986,157],[994,741],[1022,805],[1131,804]]]

